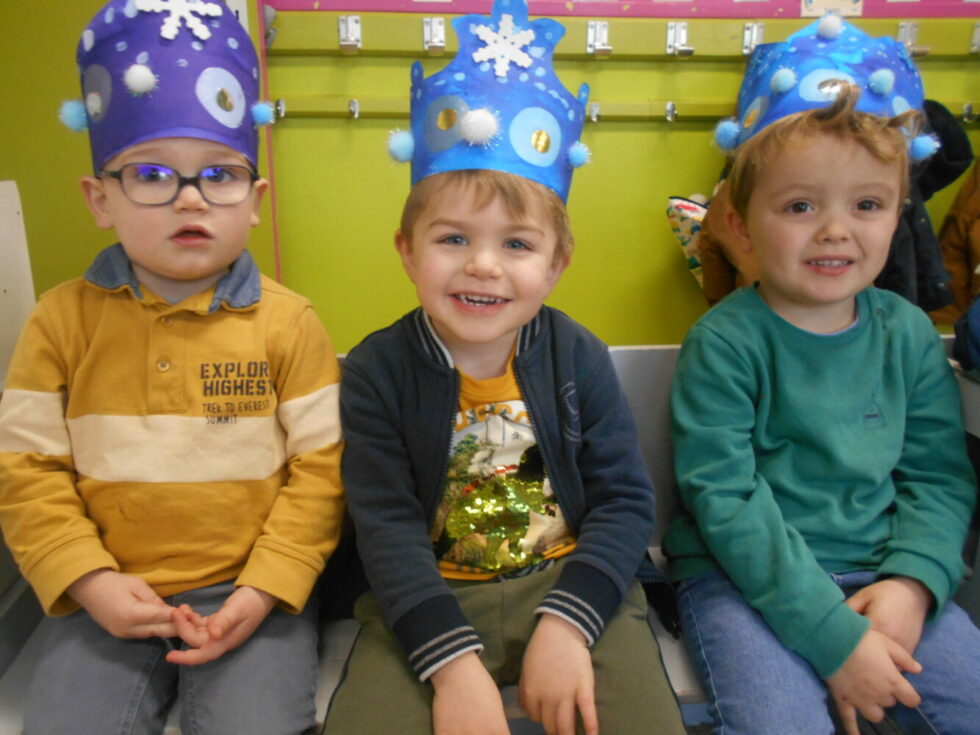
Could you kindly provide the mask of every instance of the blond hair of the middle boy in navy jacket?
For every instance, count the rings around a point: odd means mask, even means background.
[[[412,230],[422,210],[432,197],[446,191],[471,189],[477,209],[484,209],[500,198],[504,210],[514,219],[525,219],[536,204],[548,217],[558,242],[555,244],[555,262],[570,257],[575,238],[568,221],[565,204],[553,191],[523,176],[493,169],[463,169],[426,176],[412,186],[402,210],[401,232],[411,246]]]

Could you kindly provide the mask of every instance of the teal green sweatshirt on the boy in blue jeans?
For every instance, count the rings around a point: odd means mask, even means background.
[[[913,577],[935,614],[963,574],[976,503],[935,329],[893,293],[857,303],[856,325],[818,335],[736,291],[692,327],[671,393],[672,575],[724,570],[821,677],[868,628],[828,572]]]

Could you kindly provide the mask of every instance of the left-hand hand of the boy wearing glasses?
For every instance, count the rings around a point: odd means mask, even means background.
[[[68,587],[68,596],[117,638],[171,638],[174,608],[139,577],[96,569]]]

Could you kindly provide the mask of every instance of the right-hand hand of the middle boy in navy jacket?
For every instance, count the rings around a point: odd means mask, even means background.
[[[598,735],[592,655],[571,623],[541,616],[524,652],[520,692],[521,706],[548,735],[575,735],[576,710],[586,735]]]

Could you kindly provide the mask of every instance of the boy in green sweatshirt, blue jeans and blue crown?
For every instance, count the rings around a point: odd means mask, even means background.
[[[828,16],[760,46],[739,94],[729,225],[758,282],[685,339],[683,500],[664,539],[715,732],[980,732],[980,631],[949,601],[976,504],[929,319],[872,287],[922,103],[901,44]]]

